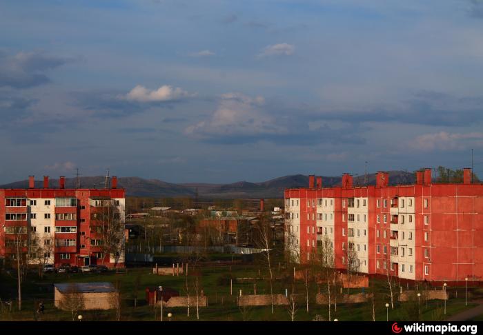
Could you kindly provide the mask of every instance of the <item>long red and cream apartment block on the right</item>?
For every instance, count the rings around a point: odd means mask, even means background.
[[[426,169],[416,173],[414,185],[395,186],[386,172],[364,187],[354,187],[350,174],[337,187],[309,176],[308,188],[285,190],[284,197],[287,245],[301,263],[317,255],[324,239],[341,270],[353,248],[366,274],[433,283],[483,280],[483,184],[471,183],[471,169],[464,169],[463,183],[432,183]]]

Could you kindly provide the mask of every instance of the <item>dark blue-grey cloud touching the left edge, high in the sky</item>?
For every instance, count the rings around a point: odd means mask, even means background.
[[[0,87],[31,88],[49,83],[47,72],[72,61],[43,52],[0,52]]]

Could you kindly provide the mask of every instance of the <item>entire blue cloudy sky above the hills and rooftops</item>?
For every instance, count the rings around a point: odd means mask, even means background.
[[[480,0],[0,0],[0,183],[483,175],[482,32]]]

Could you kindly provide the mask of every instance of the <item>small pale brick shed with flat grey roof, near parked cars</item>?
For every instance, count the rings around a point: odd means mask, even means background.
[[[55,307],[63,310],[115,309],[117,298],[112,283],[54,284]]]

